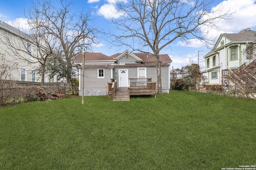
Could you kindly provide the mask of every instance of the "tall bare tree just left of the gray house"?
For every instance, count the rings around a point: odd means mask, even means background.
[[[72,59],[82,49],[90,48],[97,33],[97,29],[90,26],[93,23],[90,12],[82,11],[79,16],[72,14],[72,4],[66,0],[60,0],[58,4],[51,0],[36,0],[29,11],[40,16],[40,27],[57,41],[56,55],[66,62],[67,82],[72,78]]]

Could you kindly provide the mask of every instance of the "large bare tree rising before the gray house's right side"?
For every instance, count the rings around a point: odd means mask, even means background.
[[[212,37],[206,37],[203,26],[218,29],[217,21],[231,19],[232,12],[222,12],[224,6],[212,8],[213,4],[214,0],[116,0],[120,17],[111,20],[120,34],[110,33],[109,42],[154,55],[158,94],[162,94],[160,51],[178,39],[207,42]]]

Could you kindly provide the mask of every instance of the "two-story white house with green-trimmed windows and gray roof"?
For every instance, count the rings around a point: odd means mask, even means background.
[[[222,33],[213,49],[204,56],[206,70],[203,75],[208,84],[222,83],[222,70],[236,69],[243,63],[252,61],[252,54],[243,55],[242,51],[256,43],[256,31],[244,29],[239,33]]]

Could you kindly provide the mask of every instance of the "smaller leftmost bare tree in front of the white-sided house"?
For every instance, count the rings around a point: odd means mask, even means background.
[[[8,55],[15,55],[19,59],[25,60],[30,64],[40,63],[41,72],[41,86],[44,85],[44,67],[46,61],[50,60],[52,54],[52,43],[49,35],[45,34],[38,26],[38,18],[34,20],[27,19],[28,31],[21,31],[19,23],[14,23],[14,27],[6,24],[3,29],[0,41],[9,49]]]

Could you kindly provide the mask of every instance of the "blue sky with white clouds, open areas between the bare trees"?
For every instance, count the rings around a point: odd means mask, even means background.
[[[59,2],[59,0],[52,0]],[[112,0],[73,0],[74,4],[72,10],[74,12],[81,12],[82,10],[91,11],[94,19],[94,25],[98,29],[115,29],[110,27],[108,23],[109,12],[112,13],[112,17],[118,18],[115,14],[115,7],[112,4]],[[24,10],[28,7],[30,0],[0,0],[0,20],[12,25],[14,21],[19,21],[20,24],[25,24]],[[212,8],[217,8],[223,5],[225,10],[232,10],[235,12],[232,15],[232,20],[219,21],[220,31],[212,29],[210,34],[216,38],[216,41],[221,33],[238,33],[239,31],[251,28],[256,29],[256,0],[217,0]],[[93,51],[97,53],[103,53],[105,55],[114,55],[116,53],[122,53],[126,50],[118,47],[109,47],[107,41],[99,40],[100,45],[94,47]],[[182,68],[191,63],[198,63],[201,70],[205,70],[205,63],[203,60],[210,49],[206,47],[204,43],[190,40],[190,43],[181,41],[175,41],[169,48],[160,51],[160,54],[168,54],[172,59],[171,68]],[[199,54],[199,55],[198,55]]]

